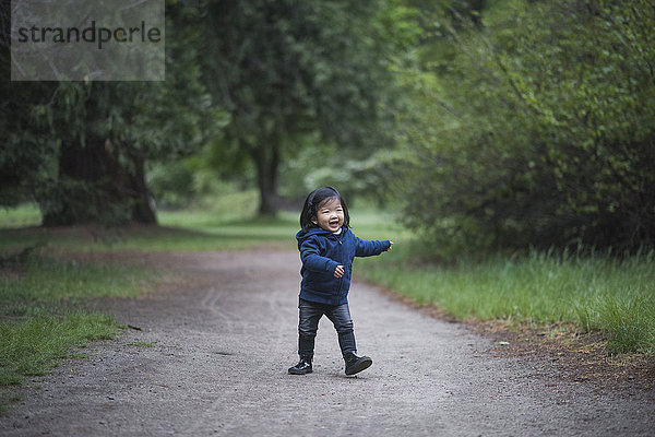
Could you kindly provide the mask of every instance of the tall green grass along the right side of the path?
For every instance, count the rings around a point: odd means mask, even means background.
[[[367,264],[366,277],[460,319],[573,322],[606,332],[612,353],[655,351],[652,251],[624,259],[531,252],[443,267],[397,249]]]

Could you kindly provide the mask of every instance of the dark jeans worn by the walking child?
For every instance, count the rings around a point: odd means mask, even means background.
[[[298,355],[305,358],[313,357],[314,339],[319,329],[319,320],[323,316],[327,316],[332,323],[334,323],[334,329],[336,329],[338,334],[338,345],[344,357],[348,352],[357,352],[348,304],[326,305],[300,299],[298,308],[300,312],[300,321],[298,322]]]

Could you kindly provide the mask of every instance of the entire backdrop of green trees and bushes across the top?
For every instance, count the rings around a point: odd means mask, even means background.
[[[148,184],[237,178],[261,213],[336,184],[448,249],[651,246],[650,3],[167,0],[164,83],[2,82],[0,204],[153,223]]]

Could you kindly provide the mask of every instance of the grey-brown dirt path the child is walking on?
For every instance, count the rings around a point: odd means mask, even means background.
[[[567,382],[550,367],[491,353],[355,283],[359,351],[345,377],[321,322],[314,373],[295,364],[299,261],[294,252],[145,256],[188,279],[139,300],[106,300],[128,329],[87,359],[32,379],[0,418],[8,436],[639,436],[655,430],[654,392],[631,397]],[[374,261],[365,261],[374,262]],[[151,343],[153,347],[134,345]]]

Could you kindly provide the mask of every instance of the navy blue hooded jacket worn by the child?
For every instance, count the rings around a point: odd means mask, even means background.
[[[348,303],[348,290],[355,257],[380,255],[391,246],[389,240],[367,241],[344,227],[334,235],[320,227],[311,227],[296,234],[302,260],[300,298],[329,305]],[[344,275],[334,277],[337,265],[344,267]]]

